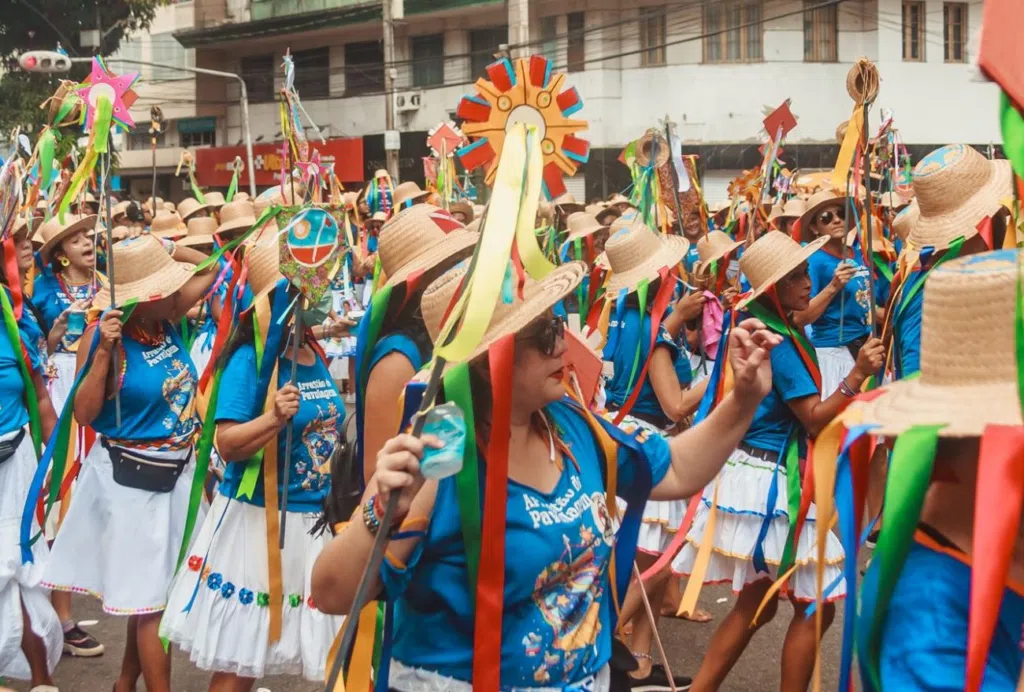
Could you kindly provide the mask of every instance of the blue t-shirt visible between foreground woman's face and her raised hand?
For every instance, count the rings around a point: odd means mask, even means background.
[[[612,330],[617,330],[617,340],[611,339]],[[647,354],[650,353],[650,315],[644,314],[640,319],[640,310],[636,307],[627,307],[623,311],[623,320],[612,318],[608,321],[608,341],[604,347],[602,358],[610,361],[614,365],[614,374],[608,381],[606,393],[608,403],[616,408],[622,407],[633,391],[630,387],[630,374],[633,372],[633,363],[636,359],[637,347],[640,348],[640,358],[636,360],[637,369],[633,387],[636,386],[636,378],[640,377],[640,370],[643,367]],[[672,362],[676,367],[676,376],[680,384],[689,384],[693,379],[690,373],[690,361],[679,350],[679,345],[672,340],[664,327],[658,328],[657,339],[654,342],[656,348],[669,349]],[[614,347],[613,349],[611,347]],[[650,377],[644,379],[637,400],[633,404],[631,413],[642,414],[644,416],[665,416],[662,404],[654,393],[654,387],[650,384]]]

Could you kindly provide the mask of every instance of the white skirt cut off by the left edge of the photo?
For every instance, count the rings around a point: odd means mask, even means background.
[[[0,439],[10,439],[16,433]],[[0,677],[29,680],[29,661],[22,653],[22,605],[29,613],[32,631],[46,645],[46,662],[50,673],[56,667],[63,651],[63,630],[50,594],[40,581],[49,551],[46,540],[39,538],[32,547],[33,562],[22,564],[22,512],[29,486],[36,472],[36,452],[32,436],[26,433],[14,455],[0,464]],[[32,522],[32,535],[39,525]]]

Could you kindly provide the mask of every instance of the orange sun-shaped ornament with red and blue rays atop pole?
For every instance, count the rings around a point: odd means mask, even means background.
[[[466,170],[487,167],[487,184],[498,173],[505,133],[515,123],[537,126],[544,153],[544,189],[549,199],[565,192],[563,175],[574,175],[590,158],[590,142],[575,136],[587,121],[570,120],[583,107],[575,87],[559,91],[565,76],[551,74],[547,58],[532,55],[515,66],[502,58],[487,66],[487,78],[476,81],[477,93],[464,96],[458,116],[472,143],[459,149]]]

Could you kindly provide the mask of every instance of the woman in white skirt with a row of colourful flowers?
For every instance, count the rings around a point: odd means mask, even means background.
[[[237,334],[228,342],[216,402],[216,444],[227,463],[224,480],[210,506],[185,563],[168,596],[161,635],[189,652],[193,662],[213,673],[211,690],[249,689],[257,678],[302,675],[324,679],[324,663],[342,618],[316,609],[306,587],[309,571],[329,535],[314,531],[324,498],[330,492],[330,464],[341,441],[345,406],[321,354],[307,339],[299,347],[292,373],[292,345],[281,341],[274,363],[272,399],[259,391],[253,311],[255,303],[278,292],[290,291],[279,270],[274,239],[258,242],[246,251],[248,280],[254,299],[242,314]],[[292,334],[290,322],[271,330]],[[265,364],[262,367],[267,367]],[[269,380],[267,380],[269,384]],[[285,460],[293,425],[291,462]],[[275,440],[275,442],[274,442]],[[254,477],[251,494],[243,484],[247,472],[259,471],[258,455],[270,444],[276,449],[276,487],[271,508],[265,471]],[[255,461],[255,467],[251,465]],[[264,461],[268,459],[264,455]],[[281,638],[268,641],[270,628],[270,561],[267,556],[267,515],[276,520],[285,503],[288,477],[288,517],[281,549]],[[276,551],[276,533],[272,550]]]

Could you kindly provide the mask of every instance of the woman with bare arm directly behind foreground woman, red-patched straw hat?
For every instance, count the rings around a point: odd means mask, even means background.
[[[478,237],[444,210],[427,204],[401,210],[380,231],[378,253],[387,282],[378,291],[390,290],[391,297],[380,305],[387,312],[375,343],[368,337],[371,318],[361,319],[355,356],[356,434],[366,480],[374,473],[377,452],[398,430],[395,401],[431,357],[430,337],[420,313],[423,290],[468,256]]]

